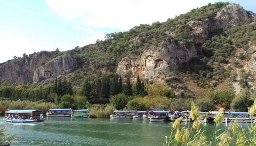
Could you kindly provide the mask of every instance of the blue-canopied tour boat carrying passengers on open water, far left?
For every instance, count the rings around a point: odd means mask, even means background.
[[[4,116],[4,121],[11,124],[42,124],[44,120],[39,110],[9,110]]]

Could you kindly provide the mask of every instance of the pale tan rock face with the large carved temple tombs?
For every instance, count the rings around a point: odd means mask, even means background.
[[[121,76],[132,75],[140,78],[153,79],[159,73],[176,70],[178,65],[197,57],[195,46],[185,46],[175,42],[163,41],[157,47],[150,47],[142,55],[130,55],[121,59],[117,73]]]

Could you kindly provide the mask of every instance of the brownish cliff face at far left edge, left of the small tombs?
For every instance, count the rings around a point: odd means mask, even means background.
[[[41,51],[28,57],[12,59],[0,65],[0,83],[25,84],[33,81],[34,70],[53,58],[52,53]]]

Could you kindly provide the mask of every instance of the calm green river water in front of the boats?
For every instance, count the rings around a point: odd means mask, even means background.
[[[0,127],[5,127],[7,134],[19,138],[13,146],[163,146],[171,124],[133,119],[46,117],[42,125],[12,125],[0,120]],[[215,123],[202,125],[206,134],[212,134]],[[246,127],[246,124],[240,126]],[[225,123],[218,126],[227,127]]]

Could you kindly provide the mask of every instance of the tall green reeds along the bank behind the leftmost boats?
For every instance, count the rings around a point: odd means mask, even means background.
[[[28,101],[28,100],[0,100],[0,106],[6,105],[6,110],[40,110],[43,114],[50,108],[60,108],[59,105],[48,102]],[[3,115],[4,111],[0,111],[0,115]]]

